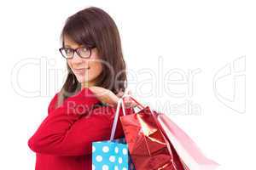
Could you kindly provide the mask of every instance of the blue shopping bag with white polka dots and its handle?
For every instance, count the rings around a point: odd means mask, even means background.
[[[124,101],[121,98],[114,116],[110,140],[92,143],[92,170],[135,170],[125,138],[113,139],[120,105],[125,115]]]

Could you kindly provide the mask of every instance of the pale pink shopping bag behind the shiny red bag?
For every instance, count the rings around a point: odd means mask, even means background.
[[[160,122],[162,132],[166,133],[167,139],[170,140],[177,155],[189,170],[212,170],[218,167],[218,163],[204,156],[188,134],[183,132],[168,116],[159,113],[157,120]]]

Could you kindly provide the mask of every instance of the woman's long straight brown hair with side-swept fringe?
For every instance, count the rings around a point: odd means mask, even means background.
[[[90,7],[80,10],[68,17],[61,31],[61,42],[64,36],[70,37],[78,44],[96,47],[101,59],[108,63],[102,65],[102,73],[97,78],[95,86],[108,88],[114,94],[127,86],[125,60],[122,54],[119,31],[113,19],[101,8]],[[112,67],[111,70],[108,68]],[[58,94],[58,106],[64,99],[77,94],[81,83],[67,64],[67,79]]]

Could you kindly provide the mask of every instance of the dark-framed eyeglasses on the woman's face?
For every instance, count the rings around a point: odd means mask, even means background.
[[[89,59],[90,55],[91,55],[91,49],[93,49],[95,47],[91,47],[91,48],[86,48],[86,47],[79,47],[79,48],[60,48],[59,51],[61,52],[61,55],[65,58],[65,59],[73,59],[73,54],[76,52],[76,54],[79,55],[79,57],[83,58],[83,59]]]

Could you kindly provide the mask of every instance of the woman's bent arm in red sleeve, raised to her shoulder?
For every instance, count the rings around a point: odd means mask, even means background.
[[[28,140],[31,150],[58,156],[91,154],[93,141],[109,139],[115,112],[110,107],[90,110],[98,102],[89,88],[66,99],[44,119]],[[120,123],[115,136],[123,136]]]

